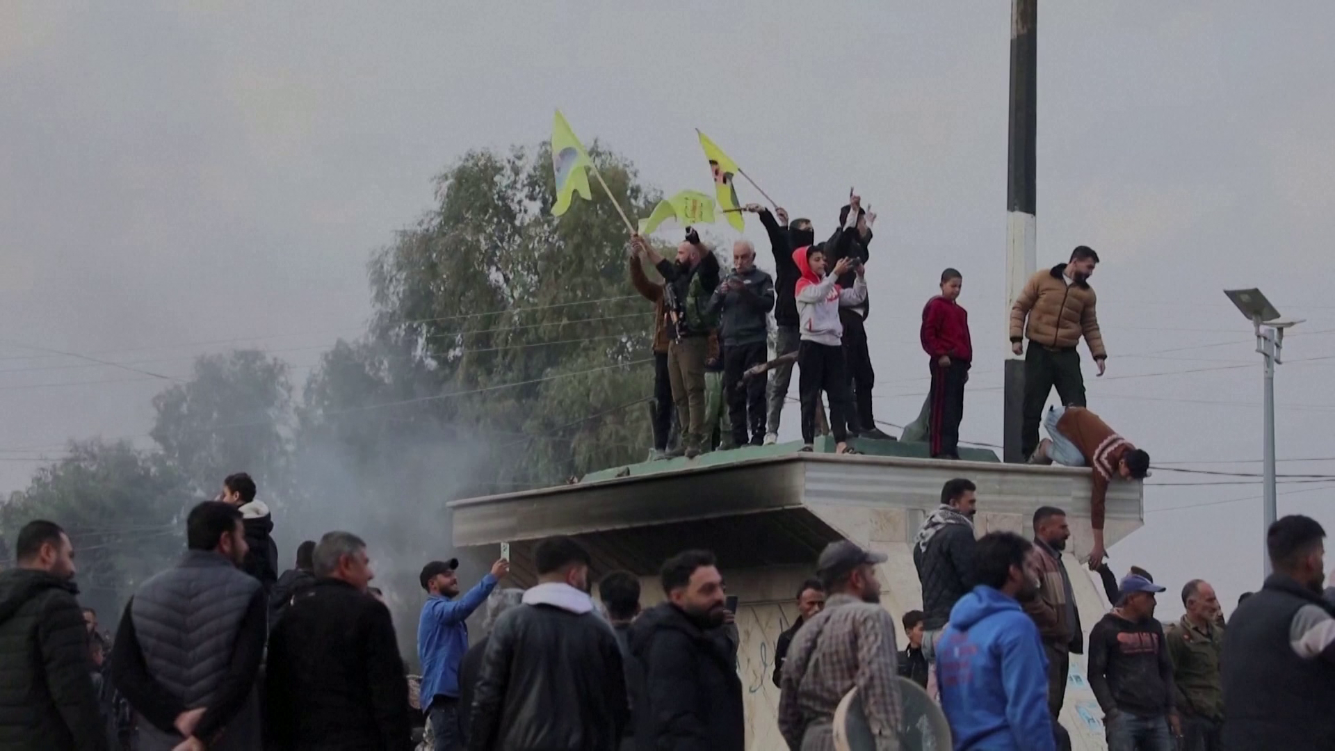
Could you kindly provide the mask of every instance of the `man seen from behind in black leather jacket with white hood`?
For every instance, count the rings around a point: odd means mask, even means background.
[[[589,597],[589,553],[534,548],[538,585],[501,616],[482,656],[470,751],[615,751],[629,720],[621,647]]]

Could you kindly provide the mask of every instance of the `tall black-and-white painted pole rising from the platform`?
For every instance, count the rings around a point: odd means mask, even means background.
[[[1007,250],[1004,321],[1039,265],[1035,227],[1035,124],[1039,82],[1036,43],[1039,0],[1011,1],[1011,146],[1007,159]],[[1024,410],[1024,358],[1007,350],[1003,458],[1023,462],[1020,422]]]

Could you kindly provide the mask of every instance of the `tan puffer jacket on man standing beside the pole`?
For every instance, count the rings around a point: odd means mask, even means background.
[[[1020,297],[1011,306],[1011,341],[1019,342],[1021,334],[1031,342],[1060,349],[1075,349],[1084,334],[1095,359],[1104,359],[1103,334],[1099,331],[1099,317],[1095,314],[1097,297],[1088,282],[1067,286],[1061,273],[1065,263],[1059,263],[1048,271],[1029,277]],[[1025,326],[1025,315],[1029,322]]]

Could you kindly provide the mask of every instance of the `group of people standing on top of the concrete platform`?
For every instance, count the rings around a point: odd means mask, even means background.
[[[838,453],[857,453],[849,438],[892,440],[872,409],[876,373],[866,335],[866,263],[876,214],[850,191],[833,234],[816,242],[809,219],[789,220],[784,208],[772,214],[754,203],[741,210],[757,214],[765,226],[773,277],[756,267],[756,246],[748,239],[733,243],[733,267],[724,271],[693,229],[672,261],[646,238],[631,235],[630,281],[654,303],[650,458],[777,442],[794,366],[801,450],[813,450],[817,434],[830,434]],[[1053,388],[1063,406],[1087,406],[1076,349],[1081,338],[1099,376],[1105,371],[1108,354],[1089,285],[1097,263],[1093,249],[1076,247],[1065,263],[1033,274],[1011,307],[1012,349],[1025,358],[1021,450],[1029,461],[1083,461],[1056,434],[1040,444],[1039,425],[1051,434],[1061,420],[1060,412],[1043,414]],[[661,281],[649,278],[646,265]],[[968,311],[959,302],[963,282],[959,270],[945,269],[940,294],[922,309],[920,334],[930,388],[920,421],[933,458],[960,458],[964,389],[973,361]],[[1148,454],[1133,446],[1127,452],[1133,453],[1129,477],[1144,477]]]

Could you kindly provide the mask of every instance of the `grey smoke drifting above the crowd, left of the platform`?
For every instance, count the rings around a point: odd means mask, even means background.
[[[490,568],[491,551],[457,551],[451,500],[481,494],[490,446],[447,426],[380,432],[366,452],[338,438],[304,441],[295,452],[292,498],[274,512],[283,569],[295,565],[303,540],[346,531],[363,540],[384,592],[399,651],[417,664],[417,625],[426,592],[418,580],[431,560],[457,557],[465,589]],[[370,453],[370,456],[367,456]],[[479,616],[481,617],[481,616]]]

